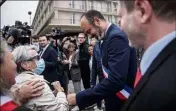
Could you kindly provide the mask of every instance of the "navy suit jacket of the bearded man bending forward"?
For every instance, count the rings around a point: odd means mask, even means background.
[[[110,74],[96,86],[77,93],[76,102],[80,109],[84,109],[105,99],[106,111],[118,111],[123,101],[116,96],[116,92],[122,90],[127,84],[127,76],[130,74],[129,66],[136,63],[130,63],[130,46],[127,36],[114,24],[109,27],[101,49],[103,65]],[[104,52],[106,49],[107,51]],[[136,59],[136,57],[132,58]],[[137,66],[133,70],[136,71],[136,69]]]

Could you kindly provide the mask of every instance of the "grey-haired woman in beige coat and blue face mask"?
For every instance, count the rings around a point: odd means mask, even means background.
[[[40,75],[45,69],[45,62],[43,59],[39,59],[38,53],[30,46],[19,46],[14,49],[12,55],[17,64],[18,72],[14,87],[19,87],[30,80],[40,80],[45,84],[42,95],[29,99],[25,105],[37,111],[68,111],[66,95],[62,92],[59,82],[54,82],[53,84],[57,91],[55,97],[47,84],[48,82]]]

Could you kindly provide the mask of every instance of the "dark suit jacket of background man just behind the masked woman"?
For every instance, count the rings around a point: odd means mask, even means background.
[[[57,74],[57,52],[51,46],[48,46],[42,57],[45,61],[45,70],[41,75],[49,82],[58,81]]]

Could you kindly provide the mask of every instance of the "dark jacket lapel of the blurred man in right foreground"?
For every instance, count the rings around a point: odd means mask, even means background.
[[[172,40],[172,42],[167,45],[164,50],[157,56],[157,58],[152,62],[149,69],[145,73],[145,75],[141,78],[139,83],[137,84],[134,92],[129,97],[127,104],[125,104],[126,109],[130,107],[133,101],[136,99],[140,91],[145,87],[148,80],[150,79],[152,73],[160,66],[160,64],[170,55],[172,52],[176,51],[176,39]]]

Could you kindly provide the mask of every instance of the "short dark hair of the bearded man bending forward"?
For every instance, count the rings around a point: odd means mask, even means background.
[[[94,24],[94,17],[97,17],[101,20],[106,20],[104,16],[97,10],[89,10],[81,16],[81,18],[85,17],[90,24]]]

